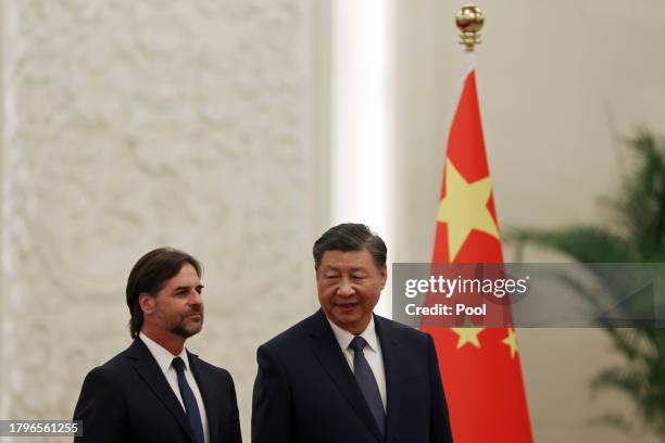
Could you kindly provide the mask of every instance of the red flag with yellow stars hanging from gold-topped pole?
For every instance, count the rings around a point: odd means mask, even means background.
[[[432,263],[503,263],[474,69],[450,129]],[[456,443],[532,441],[511,325],[423,328],[435,339]]]

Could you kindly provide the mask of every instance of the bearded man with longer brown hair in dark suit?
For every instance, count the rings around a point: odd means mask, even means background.
[[[136,263],[126,291],[134,343],[86,377],[75,442],[241,442],[230,375],[185,349],[203,326],[202,290],[187,253],[162,248]]]

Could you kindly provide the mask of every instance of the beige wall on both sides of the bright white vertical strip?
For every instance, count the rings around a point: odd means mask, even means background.
[[[422,262],[465,69],[461,2],[387,1],[399,165],[389,248]],[[329,1],[1,5],[0,415],[70,417],[85,374],[128,344],[131,264],[173,244],[205,264],[206,324],[190,346],[231,370],[249,439],[256,345],[316,307]],[[613,130],[665,132],[665,3],[480,7],[477,79],[501,227],[602,223],[597,202],[619,170]],[[601,332],[520,330],[519,344],[537,441],[626,441],[585,425],[629,407],[588,395],[616,359]]]

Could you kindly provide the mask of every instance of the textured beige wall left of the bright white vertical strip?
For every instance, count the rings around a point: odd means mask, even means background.
[[[129,344],[131,265],[173,245],[204,264],[189,346],[231,371],[249,438],[256,346],[315,307],[310,3],[2,8],[0,416],[71,417]]]

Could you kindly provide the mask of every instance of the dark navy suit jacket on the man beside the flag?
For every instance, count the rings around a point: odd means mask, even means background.
[[[374,319],[386,370],[386,435],[319,309],[259,347],[253,443],[452,442],[431,337]]]

